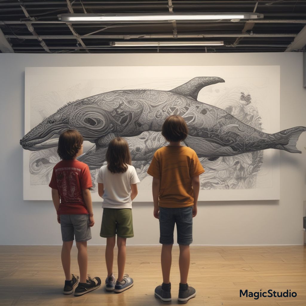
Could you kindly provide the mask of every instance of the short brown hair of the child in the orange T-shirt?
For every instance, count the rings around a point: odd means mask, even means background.
[[[188,127],[183,117],[171,115],[162,125],[162,136],[168,141],[182,141],[188,135]]]

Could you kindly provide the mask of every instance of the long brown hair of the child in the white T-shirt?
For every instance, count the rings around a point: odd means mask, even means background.
[[[124,173],[131,165],[132,159],[129,145],[122,137],[110,141],[106,151],[107,169],[111,173]]]

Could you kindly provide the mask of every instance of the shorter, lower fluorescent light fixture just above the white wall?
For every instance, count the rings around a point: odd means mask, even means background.
[[[110,42],[114,47],[158,47],[158,46],[223,46],[223,41],[114,41]]]

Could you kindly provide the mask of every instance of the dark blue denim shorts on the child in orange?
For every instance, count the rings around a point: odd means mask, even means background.
[[[159,230],[161,244],[173,244],[174,224],[177,230],[177,243],[192,243],[192,206],[179,208],[159,207]]]

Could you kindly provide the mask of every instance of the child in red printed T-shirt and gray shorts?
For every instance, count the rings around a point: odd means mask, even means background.
[[[80,296],[100,287],[99,277],[87,278],[87,241],[91,239],[90,227],[95,224],[91,195],[89,168],[76,160],[83,153],[83,137],[76,130],[67,130],[59,136],[58,155],[62,161],[53,169],[49,186],[62,230],[62,265],[65,273],[64,294],[73,293],[79,277],[70,274],[70,251],[75,236],[78,249],[80,282],[74,295]]]

